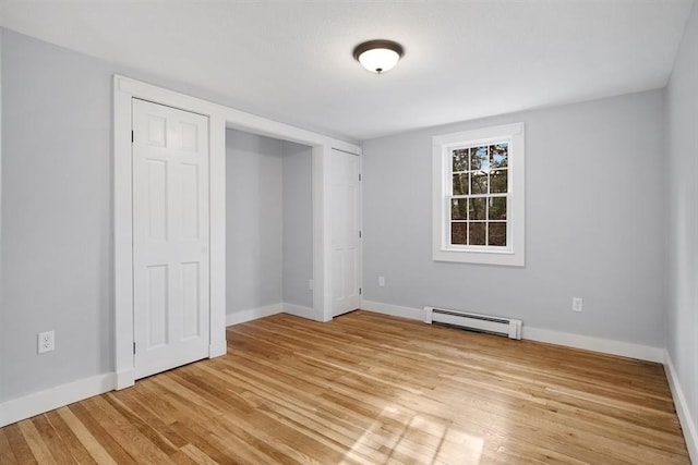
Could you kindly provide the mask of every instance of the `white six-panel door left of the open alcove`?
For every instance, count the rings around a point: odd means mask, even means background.
[[[208,356],[208,119],[133,99],[135,378]]]

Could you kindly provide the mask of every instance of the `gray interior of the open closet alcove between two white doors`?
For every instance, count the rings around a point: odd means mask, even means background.
[[[313,306],[312,149],[226,132],[227,314]]]

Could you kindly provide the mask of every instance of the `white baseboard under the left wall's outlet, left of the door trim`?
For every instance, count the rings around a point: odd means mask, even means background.
[[[0,404],[0,427],[31,418],[116,388],[113,374],[97,375]]]

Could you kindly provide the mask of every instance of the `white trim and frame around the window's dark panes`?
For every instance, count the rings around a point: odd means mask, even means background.
[[[450,182],[450,150],[462,145],[486,145],[509,142],[507,247],[449,247],[448,209],[446,196]],[[522,267],[525,255],[525,131],[524,123],[505,124],[474,131],[442,134],[432,137],[433,145],[433,259],[435,261],[459,261],[466,264],[502,265]]]

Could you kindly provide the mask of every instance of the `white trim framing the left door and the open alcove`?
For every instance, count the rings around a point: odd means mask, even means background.
[[[313,319],[332,319],[330,216],[327,157],[336,148],[361,155],[361,147],[229,107],[113,76],[115,371],[116,389],[133,386],[133,211],[131,100],[141,98],[208,117],[210,208],[209,357],[226,353],[226,127],[304,144],[313,148]]]

